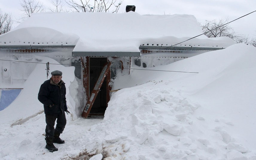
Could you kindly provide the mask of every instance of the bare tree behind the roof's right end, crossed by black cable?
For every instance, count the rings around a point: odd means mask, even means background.
[[[227,22],[228,19],[220,19],[218,22],[216,19],[212,21],[205,20],[205,23],[201,24],[201,27],[205,35],[209,38],[226,36],[233,39],[236,35],[233,28],[226,24]]]

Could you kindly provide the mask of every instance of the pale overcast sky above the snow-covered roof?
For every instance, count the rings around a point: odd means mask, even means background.
[[[3,13],[11,13],[14,19],[19,19],[22,14],[20,1],[0,0],[0,9]],[[39,1],[49,11],[51,0]],[[214,19],[231,21],[256,10],[256,0],[123,0],[119,13],[125,12],[126,5],[135,5],[136,12],[141,15],[190,14],[199,22]],[[256,12],[230,23],[230,26],[237,34],[255,38]]]

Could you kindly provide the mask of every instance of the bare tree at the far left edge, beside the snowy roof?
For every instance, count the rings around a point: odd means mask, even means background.
[[[10,31],[12,27],[12,23],[13,23],[12,16],[7,13],[3,14],[0,9],[0,35]]]

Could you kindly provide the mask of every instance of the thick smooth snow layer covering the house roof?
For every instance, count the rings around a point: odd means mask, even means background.
[[[144,43],[170,46],[202,33],[193,15],[42,12],[1,35],[0,45],[76,45],[77,52],[139,52]],[[187,43],[205,47],[234,44],[231,39],[212,40],[205,35]]]

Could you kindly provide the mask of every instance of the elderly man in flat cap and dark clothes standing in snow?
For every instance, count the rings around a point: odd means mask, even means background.
[[[52,77],[46,80],[40,87],[38,100],[44,104],[45,113],[45,140],[46,146],[50,152],[58,151],[53,143],[63,144],[65,141],[60,139],[60,134],[66,126],[67,111],[66,87],[62,80],[61,71],[51,72]],[[67,111],[68,112],[68,111]],[[56,128],[54,128],[57,119]]]

